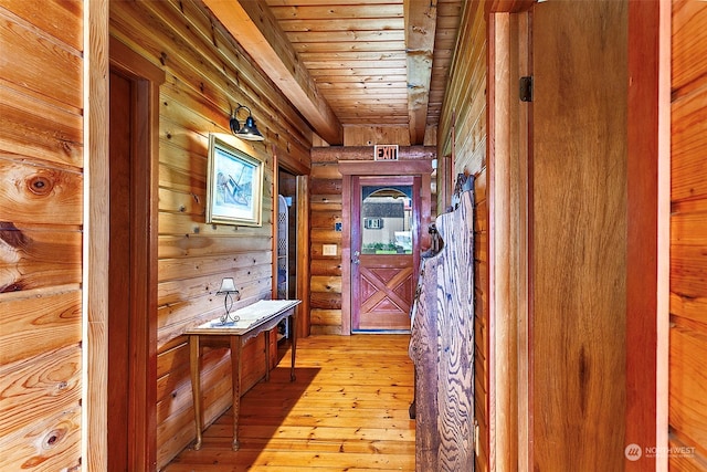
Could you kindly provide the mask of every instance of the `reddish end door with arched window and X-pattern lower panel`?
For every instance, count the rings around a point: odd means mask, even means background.
[[[351,331],[410,331],[419,263],[420,178],[354,177]]]

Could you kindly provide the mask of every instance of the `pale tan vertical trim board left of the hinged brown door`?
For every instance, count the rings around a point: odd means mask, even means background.
[[[488,18],[488,396],[490,470],[517,463],[517,313],[513,311],[510,17]],[[513,466],[511,466],[513,464]]]

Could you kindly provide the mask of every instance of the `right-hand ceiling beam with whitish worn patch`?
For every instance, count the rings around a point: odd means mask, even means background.
[[[410,144],[422,144],[428,124],[437,0],[404,0],[405,52],[408,56],[408,115]]]

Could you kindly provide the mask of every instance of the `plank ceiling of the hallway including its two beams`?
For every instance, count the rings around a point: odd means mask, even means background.
[[[464,0],[203,1],[327,143],[436,129]]]

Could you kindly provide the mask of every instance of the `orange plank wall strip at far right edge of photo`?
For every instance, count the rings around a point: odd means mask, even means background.
[[[673,2],[671,470],[707,464],[707,6]],[[679,451],[676,449],[675,451]]]

